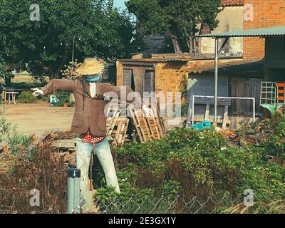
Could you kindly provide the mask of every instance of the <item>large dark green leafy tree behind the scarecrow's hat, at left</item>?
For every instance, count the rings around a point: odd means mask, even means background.
[[[133,51],[135,24],[127,11],[113,7],[112,0],[36,3],[40,20],[31,21],[30,0],[0,0],[0,59],[6,72],[27,70],[36,78],[56,78],[71,61],[73,39],[78,61],[114,61]]]

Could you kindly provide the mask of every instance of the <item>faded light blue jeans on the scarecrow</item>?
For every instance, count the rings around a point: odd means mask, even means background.
[[[81,138],[77,138],[76,150],[77,168],[81,170],[81,204],[85,204],[88,191],[88,170],[91,154],[93,152],[93,143],[84,142]],[[115,191],[120,192],[108,138],[104,138],[103,141],[95,143],[95,155],[97,155],[103,167],[107,185],[115,187]]]

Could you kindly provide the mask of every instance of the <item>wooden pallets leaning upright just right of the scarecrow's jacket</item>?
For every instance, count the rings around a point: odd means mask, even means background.
[[[133,105],[108,109],[107,135],[113,145],[123,145],[127,140],[128,125],[131,120],[140,142],[161,139],[166,136],[164,121],[160,118],[159,108],[150,107],[152,115],[145,115]],[[127,116],[130,116],[128,118]],[[125,116],[125,117],[124,117]]]

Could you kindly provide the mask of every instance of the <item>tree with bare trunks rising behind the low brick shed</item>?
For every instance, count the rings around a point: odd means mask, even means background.
[[[126,2],[145,34],[169,33],[176,53],[195,51],[194,36],[199,24],[217,27],[220,0],[130,0]],[[186,48],[184,48],[184,46]]]

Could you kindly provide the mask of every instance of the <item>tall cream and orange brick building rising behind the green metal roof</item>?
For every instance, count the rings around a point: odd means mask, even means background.
[[[284,0],[222,0],[218,14],[219,26],[212,33],[238,31],[250,28],[267,28],[285,25]],[[224,51],[229,56],[244,59],[262,59],[265,53],[264,38],[231,38]],[[214,53],[211,38],[199,40],[200,53]]]

